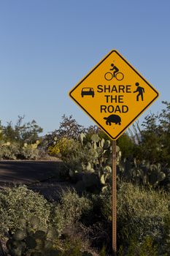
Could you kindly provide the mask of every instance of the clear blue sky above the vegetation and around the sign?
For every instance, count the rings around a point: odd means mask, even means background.
[[[170,97],[169,48],[169,0],[0,0],[2,124],[26,115],[46,133],[64,113],[93,124],[68,91],[112,49],[160,91],[157,112]]]

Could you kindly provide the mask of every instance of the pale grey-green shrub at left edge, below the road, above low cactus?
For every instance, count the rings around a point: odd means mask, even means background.
[[[47,227],[50,219],[50,205],[42,195],[20,185],[5,188],[0,192],[0,230],[14,232],[20,228],[20,218],[28,221],[31,217],[40,219],[39,225]]]

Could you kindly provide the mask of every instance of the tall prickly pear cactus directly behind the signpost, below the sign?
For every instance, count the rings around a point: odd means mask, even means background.
[[[85,134],[80,135],[82,147],[88,152],[93,152],[93,158],[87,163],[80,163],[83,170],[82,179],[78,181],[77,186],[83,189],[90,187],[107,187],[111,182],[112,176],[112,145],[109,140],[100,138],[97,134],[86,139]],[[117,147],[117,162],[120,159],[120,148]],[[70,171],[70,175],[74,176]],[[99,185],[98,185],[99,184]]]

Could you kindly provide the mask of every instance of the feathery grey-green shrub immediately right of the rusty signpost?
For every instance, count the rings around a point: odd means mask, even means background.
[[[124,244],[136,234],[139,241],[149,236],[160,243],[163,219],[169,214],[169,195],[123,183],[117,193],[118,237]]]

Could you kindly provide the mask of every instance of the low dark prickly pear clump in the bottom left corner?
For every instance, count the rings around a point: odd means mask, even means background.
[[[25,222],[22,230],[17,230],[14,234],[11,234],[7,241],[9,255],[31,256],[59,254],[59,250],[53,248],[58,238],[57,233],[53,232],[53,236],[51,236],[52,234],[49,228],[45,231],[34,231],[39,221],[38,218],[32,218],[29,223]]]

